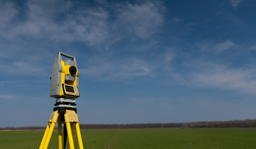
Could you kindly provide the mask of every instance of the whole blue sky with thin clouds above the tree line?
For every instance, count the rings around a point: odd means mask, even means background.
[[[0,1],[0,127],[44,126],[57,52],[80,124],[255,119],[256,2]]]

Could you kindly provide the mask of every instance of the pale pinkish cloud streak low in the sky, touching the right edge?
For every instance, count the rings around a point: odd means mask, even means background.
[[[226,66],[206,65],[204,70],[190,73],[196,86],[234,89],[255,94],[256,70],[254,68],[230,69]]]

